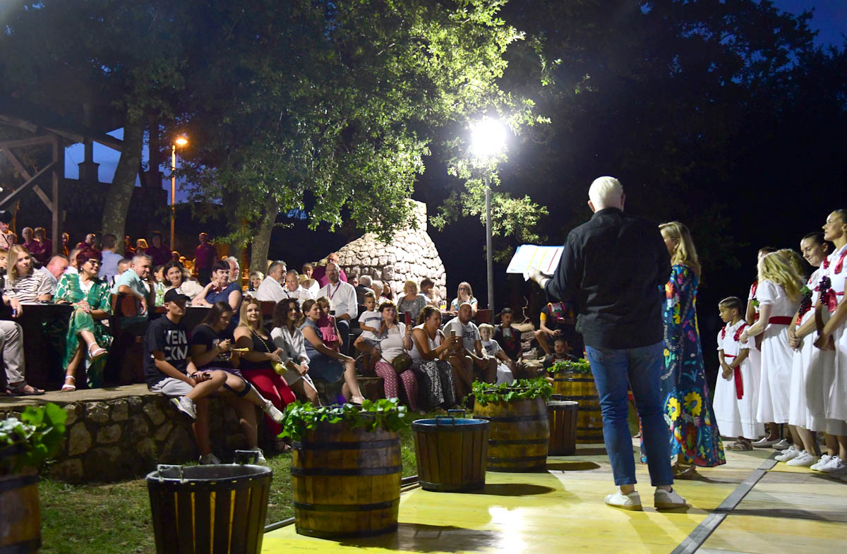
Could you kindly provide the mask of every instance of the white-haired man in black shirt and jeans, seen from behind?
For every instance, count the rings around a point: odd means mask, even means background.
[[[530,270],[551,297],[574,302],[603,413],[603,438],[617,491],[606,504],[640,510],[635,461],[627,423],[627,385],[632,386],[643,446],[656,487],[656,508],[685,506],[671,487],[670,443],[660,397],[664,368],[660,287],[671,273],[670,257],[655,224],[624,215],[626,197],[617,179],[591,183],[591,219],[567,235],[552,279]]]

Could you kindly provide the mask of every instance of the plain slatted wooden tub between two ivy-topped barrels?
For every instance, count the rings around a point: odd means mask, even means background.
[[[421,488],[439,492],[483,488],[489,426],[484,419],[452,417],[412,423]]]

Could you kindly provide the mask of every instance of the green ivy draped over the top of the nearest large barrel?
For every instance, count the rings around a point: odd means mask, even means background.
[[[365,400],[361,407],[352,404],[316,407],[311,402],[298,401],[285,407],[280,437],[301,440],[308,429],[314,429],[320,423],[337,424],[342,421],[368,431],[399,431],[409,425],[406,407],[401,406],[396,398]]]

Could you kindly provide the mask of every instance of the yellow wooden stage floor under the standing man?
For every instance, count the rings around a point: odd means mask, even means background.
[[[726,465],[674,485],[689,508],[663,512],[653,509],[647,468],[637,463],[644,512],[628,512],[603,503],[613,485],[602,446],[580,446],[575,456],[548,458],[547,473],[489,472],[476,493],[407,490],[390,535],[323,540],[291,524],[264,535],[262,551],[847,552],[847,483],[775,463],[772,452],[727,452]]]

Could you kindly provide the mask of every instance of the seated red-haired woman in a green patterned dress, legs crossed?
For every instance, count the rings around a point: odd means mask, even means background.
[[[62,364],[65,368],[63,391],[76,390],[76,369],[87,363],[88,386],[102,385],[112,336],[103,322],[111,313],[108,283],[97,278],[102,260],[99,251],[86,248],[76,257],[78,274],[64,274],[58,281],[56,303],[75,307],[68,322],[68,335]]]

